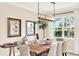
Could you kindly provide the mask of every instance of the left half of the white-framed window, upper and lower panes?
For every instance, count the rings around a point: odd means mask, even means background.
[[[54,37],[62,37],[62,18],[56,18],[53,22]]]

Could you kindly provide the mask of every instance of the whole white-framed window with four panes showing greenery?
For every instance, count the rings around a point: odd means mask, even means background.
[[[55,18],[52,23],[53,36],[74,38],[74,23],[74,16]]]

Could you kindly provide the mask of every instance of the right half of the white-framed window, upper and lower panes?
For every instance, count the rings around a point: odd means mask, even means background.
[[[74,17],[64,18],[64,36],[74,37]]]

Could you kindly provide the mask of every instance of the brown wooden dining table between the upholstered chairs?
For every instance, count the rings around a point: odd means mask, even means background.
[[[32,52],[35,55],[41,55],[45,52],[48,52],[49,48],[49,44],[30,45],[30,52]]]

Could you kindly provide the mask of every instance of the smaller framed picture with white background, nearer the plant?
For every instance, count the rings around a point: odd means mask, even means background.
[[[34,21],[26,21],[26,35],[27,36],[35,35],[35,22]]]

